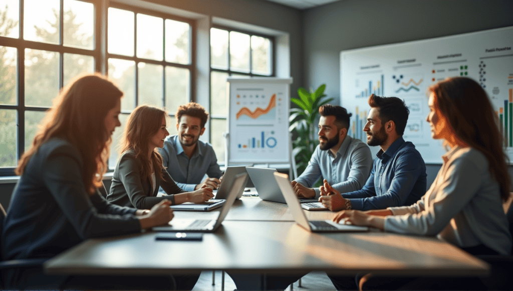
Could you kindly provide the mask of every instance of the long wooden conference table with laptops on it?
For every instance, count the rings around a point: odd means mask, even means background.
[[[175,211],[175,218],[215,219],[210,212]],[[331,211],[305,211],[309,220]],[[155,232],[89,239],[45,264],[48,274],[167,275],[225,270],[230,274],[486,276],[484,261],[432,237],[382,232],[312,233],[286,204],[242,197],[221,227],[202,241],[156,241]]]

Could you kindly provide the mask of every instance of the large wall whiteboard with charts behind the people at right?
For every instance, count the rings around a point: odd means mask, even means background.
[[[410,115],[404,139],[426,163],[442,163],[442,141],[433,140],[426,121],[427,88],[447,77],[470,77],[485,89],[502,120],[505,147],[513,161],[513,27],[450,37],[374,46],[340,53],[341,104],[353,113],[349,135],[363,132],[370,94],[403,99]],[[379,147],[371,147],[373,153]]]

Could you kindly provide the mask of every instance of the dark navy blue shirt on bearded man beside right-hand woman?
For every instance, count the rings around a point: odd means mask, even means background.
[[[399,137],[374,159],[362,190],[342,194],[352,209],[385,209],[416,203],[426,193],[426,164],[415,145]]]

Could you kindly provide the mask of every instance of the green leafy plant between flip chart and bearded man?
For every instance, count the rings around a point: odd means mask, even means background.
[[[289,132],[294,134],[292,142],[292,157],[295,157],[298,173],[303,173],[308,166],[308,161],[319,144],[317,138],[317,124],[314,122],[319,115],[319,107],[329,103],[333,98],[324,98],[326,84],[322,84],[313,91],[305,88],[298,89],[299,98],[291,98],[291,101],[299,108],[292,108],[289,116]]]

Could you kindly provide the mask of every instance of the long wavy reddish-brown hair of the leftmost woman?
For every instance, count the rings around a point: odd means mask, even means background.
[[[105,117],[123,96],[123,92],[101,74],[78,76],[53,99],[53,106],[39,126],[32,147],[19,160],[15,170],[22,175],[28,161],[43,143],[63,137],[82,157],[83,180],[91,195],[102,185],[107,171],[111,142]]]

